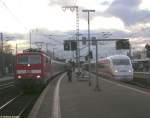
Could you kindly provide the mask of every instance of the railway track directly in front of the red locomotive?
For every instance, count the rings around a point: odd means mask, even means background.
[[[25,95],[19,93],[0,106],[0,117],[25,117],[25,114],[27,114],[26,112],[29,112],[30,107],[32,107],[37,97],[37,94]]]

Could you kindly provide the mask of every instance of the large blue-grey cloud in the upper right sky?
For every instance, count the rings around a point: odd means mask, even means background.
[[[126,26],[150,21],[150,11],[139,8],[142,0],[114,0],[106,11],[99,13],[105,17],[118,17]]]

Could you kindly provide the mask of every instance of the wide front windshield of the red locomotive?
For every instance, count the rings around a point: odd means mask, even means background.
[[[18,64],[40,64],[40,55],[19,55]]]

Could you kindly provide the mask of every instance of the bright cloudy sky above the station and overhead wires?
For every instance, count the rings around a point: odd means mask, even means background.
[[[133,46],[138,42],[150,43],[149,0],[0,0],[0,32],[27,35],[33,29],[39,29],[36,30],[38,35],[44,31],[49,34],[75,33],[75,11],[62,10],[68,5],[79,7],[81,33],[87,32],[88,28],[87,13],[82,10],[94,9],[95,12],[90,13],[92,33],[111,32],[111,38],[130,38]],[[35,32],[32,38],[39,39]]]

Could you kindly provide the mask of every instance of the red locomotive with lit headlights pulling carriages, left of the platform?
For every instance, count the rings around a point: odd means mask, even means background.
[[[65,64],[52,60],[44,52],[26,50],[16,55],[16,85],[21,89],[41,89],[50,78],[65,70]]]

